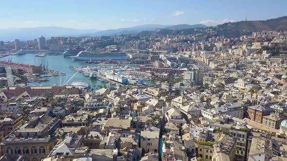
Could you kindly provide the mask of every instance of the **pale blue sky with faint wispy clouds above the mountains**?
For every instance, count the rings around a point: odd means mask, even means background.
[[[118,29],[287,16],[287,0],[0,0],[0,29]]]

